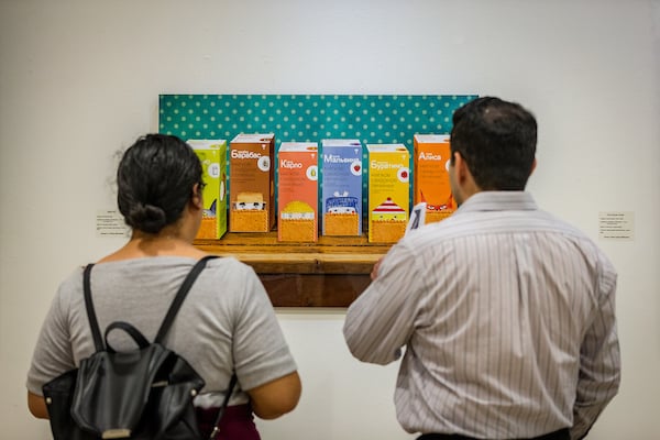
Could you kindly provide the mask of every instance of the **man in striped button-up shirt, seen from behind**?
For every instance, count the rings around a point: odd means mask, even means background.
[[[537,123],[517,103],[455,111],[459,209],[392,246],[351,305],[361,361],[402,361],[397,418],[419,439],[580,439],[619,385],[616,272],[525,191]]]

